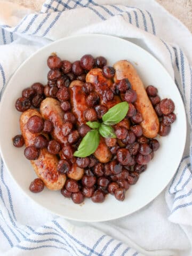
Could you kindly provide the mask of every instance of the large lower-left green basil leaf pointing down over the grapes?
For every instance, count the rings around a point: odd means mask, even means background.
[[[99,146],[99,132],[98,130],[91,130],[87,132],[85,137],[82,139],[77,151],[74,156],[86,157],[94,153]]]

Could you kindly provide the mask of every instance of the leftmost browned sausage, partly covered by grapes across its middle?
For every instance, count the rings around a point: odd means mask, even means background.
[[[35,138],[41,134],[31,133],[28,130],[27,121],[34,115],[41,117],[41,114],[35,109],[28,109],[20,116],[20,129],[27,147],[33,145]],[[46,134],[43,135],[48,138]],[[66,175],[58,174],[57,172],[58,158],[55,155],[51,155],[46,148],[40,149],[38,159],[31,160],[30,162],[37,176],[43,180],[47,188],[59,190],[65,185]]]

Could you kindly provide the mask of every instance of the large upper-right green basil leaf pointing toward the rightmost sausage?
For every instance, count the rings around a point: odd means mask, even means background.
[[[106,125],[114,125],[125,118],[127,111],[129,110],[129,103],[126,101],[118,103],[114,107],[110,108],[105,115],[103,115],[102,120]]]

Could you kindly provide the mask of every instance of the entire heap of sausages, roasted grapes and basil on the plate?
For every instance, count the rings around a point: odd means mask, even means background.
[[[61,190],[81,204],[114,195],[123,201],[175,121],[174,102],[145,89],[133,65],[84,55],[71,63],[56,54],[47,59],[47,84],[34,83],[15,102],[24,154],[37,177],[30,191]]]

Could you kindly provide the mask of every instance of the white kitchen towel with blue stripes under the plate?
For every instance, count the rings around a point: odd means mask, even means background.
[[[169,186],[118,220],[79,223],[45,211],[18,189],[1,159],[0,255],[192,255],[192,38],[187,28],[154,0],[47,0],[39,13],[0,1],[0,24],[0,97],[14,71],[40,47],[69,35],[109,34],[140,45],[163,64],[188,120],[185,152]]]

